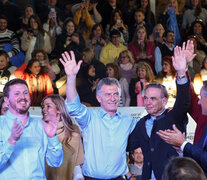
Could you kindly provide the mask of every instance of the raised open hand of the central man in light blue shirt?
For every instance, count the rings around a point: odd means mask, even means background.
[[[76,76],[79,69],[80,65],[82,63],[82,60],[76,63],[75,60],[75,55],[73,51],[70,51],[70,55],[67,51],[62,53],[62,58],[60,58],[60,62],[64,66],[65,73],[67,76]]]

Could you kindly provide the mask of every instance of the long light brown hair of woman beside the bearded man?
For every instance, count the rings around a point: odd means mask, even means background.
[[[57,94],[51,94],[46,96],[43,102],[50,98],[52,100],[52,102],[55,104],[56,109],[60,112],[60,121],[63,122],[64,124],[64,138],[62,140],[62,144],[66,145],[67,147],[69,147],[71,150],[73,150],[73,148],[68,144],[68,141],[71,140],[72,138],[72,133],[73,132],[77,132],[79,134],[81,134],[79,128],[77,126],[74,125],[73,120],[71,118],[71,116],[69,115],[69,112],[67,110],[67,107],[65,105],[65,101],[63,99],[63,97],[57,95]]]

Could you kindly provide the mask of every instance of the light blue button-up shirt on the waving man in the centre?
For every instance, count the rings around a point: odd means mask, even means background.
[[[111,117],[102,108],[88,109],[78,96],[66,105],[83,131],[83,174],[100,179],[125,175],[128,136],[138,120],[120,112]]]

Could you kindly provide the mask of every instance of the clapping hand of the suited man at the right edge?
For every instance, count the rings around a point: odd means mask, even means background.
[[[167,129],[165,131],[159,130],[157,134],[168,144],[171,144],[172,146],[181,147],[181,145],[185,141],[185,133],[181,133],[179,129],[176,128],[175,125],[173,125],[173,130]]]

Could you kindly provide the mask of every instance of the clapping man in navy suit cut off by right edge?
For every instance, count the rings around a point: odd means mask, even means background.
[[[207,82],[204,82],[200,91],[201,99],[198,103],[201,105],[202,114],[207,116]],[[186,157],[193,158],[203,169],[207,176],[207,126],[204,129],[200,141],[193,145],[185,140],[185,135],[173,125],[173,130],[160,130],[157,134],[167,143],[171,144],[177,150],[181,150]]]

